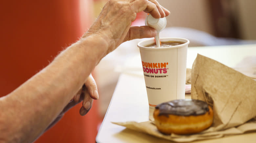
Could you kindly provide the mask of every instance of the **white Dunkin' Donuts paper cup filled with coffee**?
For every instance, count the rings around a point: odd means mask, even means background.
[[[183,38],[160,38],[160,41],[182,41],[184,44],[150,48],[154,39],[138,43],[148,103],[150,108],[176,99],[185,98],[187,46]]]

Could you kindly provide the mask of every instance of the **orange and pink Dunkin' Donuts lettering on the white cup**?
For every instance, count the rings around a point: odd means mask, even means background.
[[[168,65],[168,62],[166,63],[148,63],[142,61],[142,67],[143,71],[146,73],[167,73],[168,68],[166,66]]]

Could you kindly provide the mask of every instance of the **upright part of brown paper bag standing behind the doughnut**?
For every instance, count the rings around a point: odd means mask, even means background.
[[[198,55],[192,68],[191,98],[213,106],[214,131],[256,116],[256,81],[215,60]]]

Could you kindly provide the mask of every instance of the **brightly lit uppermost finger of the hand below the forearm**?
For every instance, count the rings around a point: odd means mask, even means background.
[[[85,86],[87,87],[89,95],[91,96],[91,98],[93,98],[93,99],[98,99],[99,98],[96,81],[93,78],[92,74],[90,74],[88,76],[88,78],[85,82]]]

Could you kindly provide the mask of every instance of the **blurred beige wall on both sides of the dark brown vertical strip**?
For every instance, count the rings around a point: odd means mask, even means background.
[[[158,0],[170,10],[167,26],[188,27],[214,35],[209,0]],[[256,0],[233,0],[241,39],[256,40]]]

